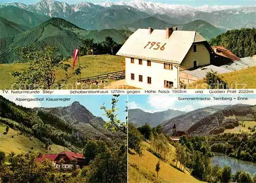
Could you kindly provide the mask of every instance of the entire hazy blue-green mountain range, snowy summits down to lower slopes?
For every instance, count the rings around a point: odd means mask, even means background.
[[[65,0],[62,0],[65,1]],[[223,30],[256,27],[256,6],[201,6],[170,5],[152,1],[105,2],[101,4],[81,2],[70,5],[65,2],[41,0],[33,5],[0,3],[0,8],[15,6],[49,17],[64,18],[87,30],[119,29],[147,17],[157,17],[170,24],[184,24],[204,20]],[[152,22],[152,26],[154,27]]]

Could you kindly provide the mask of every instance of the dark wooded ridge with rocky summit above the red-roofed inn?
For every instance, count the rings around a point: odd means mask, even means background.
[[[68,114],[71,109],[76,112]],[[62,113],[58,114],[59,111]],[[83,116],[89,115],[90,118],[85,118],[84,121],[77,120],[79,112]],[[105,129],[104,120],[93,116],[79,102],[74,102],[72,106],[63,109],[29,109],[17,106],[0,96],[0,120],[11,128],[34,136],[46,146],[54,143],[73,151],[80,151],[88,140],[104,140],[109,146],[121,142],[118,133],[114,135]]]

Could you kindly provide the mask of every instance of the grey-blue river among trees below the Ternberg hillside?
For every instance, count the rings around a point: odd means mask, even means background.
[[[220,167],[230,166],[232,173],[236,173],[238,170],[244,170],[251,175],[256,173],[256,163],[237,160],[220,153],[214,154],[215,156],[211,158],[211,165],[218,164]]]

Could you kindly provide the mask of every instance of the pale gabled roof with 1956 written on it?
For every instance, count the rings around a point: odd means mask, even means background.
[[[148,29],[138,29],[126,40],[117,55],[180,64],[191,45],[203,41],[206,40],[195,31],[173,31],[167,39],[166,30],[154,30],[148,34]],[[155,44],[151,47],[149,42],[159,43],[160,46]]]

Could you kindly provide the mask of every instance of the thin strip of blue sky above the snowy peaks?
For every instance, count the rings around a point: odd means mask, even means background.
[[[104,3],[106,1],[109,2],[119,2],[119,0],[58,0],[59,2],[66,2],[68,4],[76,4],[79,2],[90,2],[90,3]],[[144,0],[147,1],[147,0]],[[26,5],[35,4],[39,2],[39,0],[0,0],[2,3],[10,3],[10,2],[20,2]],[[123,2],[130,2],[127,0],[123,0]],[[193,7],[203,6],[203,5],[209,5],[209,6],[215,6],[215,5],[238,5],[238,6],[250,6],[250,5],[256,5],[255,0],[208,0],[208,1],[202,1],[202,0],[153,0],[153,2],[159,2],[162,4],[174,4],[174,5],[188,5]]]

